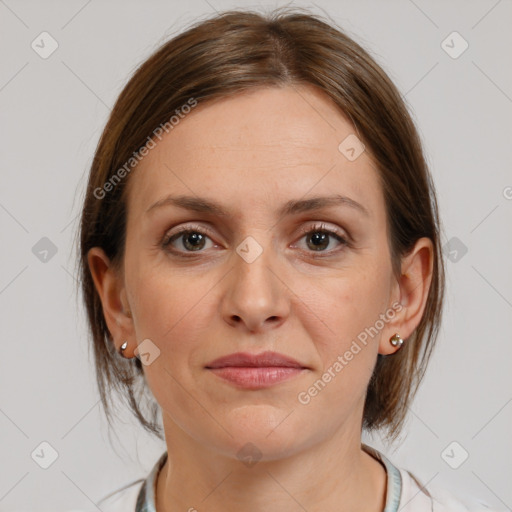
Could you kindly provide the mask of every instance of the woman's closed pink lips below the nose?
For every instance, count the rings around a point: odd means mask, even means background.
[[[220,357],[206,368],[222,379],[246,389],[260,389],[299,375],[307,367],[277,352],[237,352]]]

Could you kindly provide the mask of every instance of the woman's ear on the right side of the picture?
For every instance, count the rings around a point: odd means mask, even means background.
[[[389,355],[399,347],[389,342],[398,333],[405,343],[418,327],[427,303],[428,291],[432,282],[434,249],[430,238],[420,238],[413,249],[402,258],[401,276],[395,281],[392,296],[402,305],[402,309],[386,324],[379,343],[379,354]]]

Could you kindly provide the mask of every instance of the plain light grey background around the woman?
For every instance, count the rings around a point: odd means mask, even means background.
[[[75,301],[86,174],[109,109],[138,63],[198,16],[273,5],[0,0],[0,510],[98,510],[93,501],[146,476],[165,449],[128,414],[109,439],[99,406]],[[443,243],[457,237],[467,247],[462,257],[460,249],[446,251],[439,346],[401,441],[368,442],[424,483],[510,510],[512,3],[295,5],[329,13],[404,93],[437,185]],[[47,59],[31,48],[43,31],[59,45]],[[453,31],[469,44],[456,59],[441,46]],[[450,41],[452,51],[461,48]],[[57,247],[46,262],[32,251],[43,237]],[[48,469],[31,458],[43,441],[59,455]],[[459,444],[443,459],[453,441]],[[454,465],[462,450],[469,458],[452,469],[445,459]]]

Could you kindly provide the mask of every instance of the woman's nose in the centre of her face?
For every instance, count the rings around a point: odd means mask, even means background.
[[[246,332],[277,328],[289,315],[290,292],[279,277],[273,251],[265,248],[250,263],[238,253],[233,258],[234,268],[222,297],[222,317]]]

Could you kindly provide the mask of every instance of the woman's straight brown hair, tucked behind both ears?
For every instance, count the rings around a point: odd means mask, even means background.
[[[227,11],[196,22],[161,46],[134,73],[112,110],[90,170],[80,225],[79,266],[100,397],[110,423],[112,390],[141,424],[162,438],[159,407],[150,400],[138,358],[115,352],[87,253],[101,247],[122,268],[129,176],[98,199],[95,191],[190,98],[200,104],[262,86],[312,85],[350,117],[376,163],[386,202],[393,271],[421,237],[434,246],[433,278],[422,320],[404,347],[378,356],[369,382],[363,428],[396,437],[423,377],[441,320],[444,267],[437,200],[420,138],[399,91],[373,58],[341,29],[302,9],[268,14]],[[126,168],[126,167],[125,167]]]

